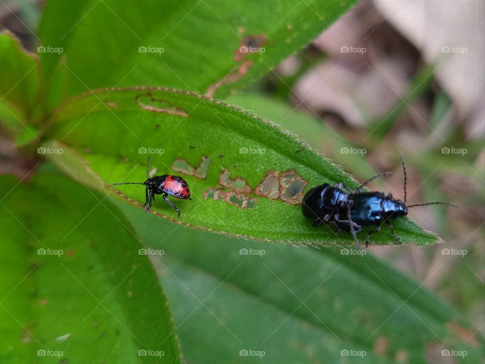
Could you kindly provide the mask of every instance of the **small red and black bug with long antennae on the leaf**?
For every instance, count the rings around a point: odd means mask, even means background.
[[[150,177],[150,156],[148,156],[147,164],[147,180],[143,183],[139,182],[123,182],[113,184],[118,185],[143,185],[145,188],[145,195],[147,202],[144,203],[143,208],[145,212],[149,212],[152,208],[152,200],[155,201],[155,195],[162,195],[163,199],[174,208],[180,217],[180,210],[168,199],[168,195],[182,200],[191,200],[190,190],[186,181],[179,176],[173,174],[164,174],[161,176]]]

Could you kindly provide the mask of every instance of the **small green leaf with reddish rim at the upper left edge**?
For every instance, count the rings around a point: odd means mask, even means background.
[[[0,122],[15,136],[38,117],[38,62],[22,49],[12,33],[0,33]]]

